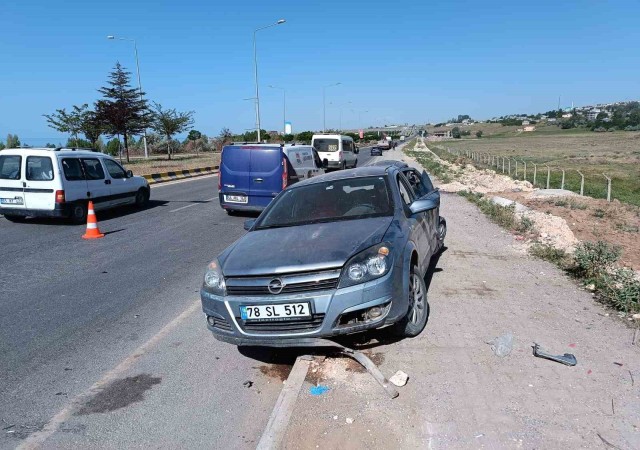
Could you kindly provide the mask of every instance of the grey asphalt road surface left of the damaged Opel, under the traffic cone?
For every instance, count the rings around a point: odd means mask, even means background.
[[[47,446],[255,446],[294,356],[217,342],[198,307],[206,264],[246,218],[219,207],[215,176],[151,198],[99,214],[106,236],[92,241],[83,226],[0,216],[1,448],[61,411],[73,414]],[[103,394],[70,409],[94,383]]]

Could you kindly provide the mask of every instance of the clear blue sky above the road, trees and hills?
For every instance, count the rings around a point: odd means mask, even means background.
[[[217,135],[252,128],[253,30],[262,127],[327,127],[489,118],[563,104],[638,98],[640,3],[504,1],[10,1],[0,33],[0,139],[66,136],[42,114],[92,103],[116,61],[133,72],[135,38],[147,97],[195,111]],[[350,104],[348,102],[351,102]],[[352,110],[368,111],[358,114]],[[359,117],[362,118],[358,123]]]

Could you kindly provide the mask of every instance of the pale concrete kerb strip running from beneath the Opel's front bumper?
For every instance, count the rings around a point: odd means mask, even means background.
[[[269,417],[269,422],[262,433],[262,437],[260,437],[260,442],[258,442],[256,450],[280,448],[282,439],[287,431],[287,426],[289,426],[289,420],[291,420],[291,414],[296,405],[298,394],[300,393],[300,389],[302,389],[302,384],[307,377],[307,371],[311,365],[310,360],[303,358],[305,357],[298,356],[296,359],[291,373],[282,391],[280,391],[280,396],[276,401],[276,405],[273,407],[271,417]]]

